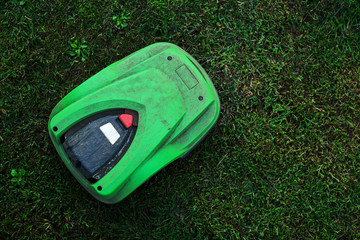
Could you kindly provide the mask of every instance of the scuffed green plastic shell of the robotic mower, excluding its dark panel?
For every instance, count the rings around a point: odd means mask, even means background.
[[[60,137],[81,120],[116,108],[138,112],[136,135],[117,165],[90,183],[72,165]],[[199,63],[176,45],[156,43],[71,91],[53,109],[48,128],[57,152],[80,184],[98,200],[112,204],[189,152],[219,113],[219,97]]]

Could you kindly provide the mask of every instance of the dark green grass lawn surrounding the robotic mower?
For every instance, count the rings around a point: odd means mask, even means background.
[[[0,239],[360,239],[359,1],[0,2]],[[58,156],[50,112],[160,41],[209,73],[220,121],[102,204]]]

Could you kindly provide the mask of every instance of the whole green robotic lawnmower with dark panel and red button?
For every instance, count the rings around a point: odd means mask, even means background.
[[[219,113],[219,97],[200,64],[173,44],[156,43],[72,90],[51,112],[48,128],[81,185],[116,203],[184,158]]]

